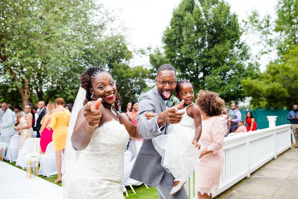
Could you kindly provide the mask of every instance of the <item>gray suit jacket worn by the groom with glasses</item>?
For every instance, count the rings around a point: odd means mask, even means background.
[[[161,113],[166,110],[166,106],[155,87],[139,97],[138,107],[139,134],[144,140],[131,170],[130,178],[156,187],[163,176],[164,168],[161,166],[161,156],[153,146],[152,138],[160,133],[156,130],[156,118],[147,120],[144,114],[145,112]],[[169,124],[166,123],[162,128],[162,134],[167,133],[168,126]]]

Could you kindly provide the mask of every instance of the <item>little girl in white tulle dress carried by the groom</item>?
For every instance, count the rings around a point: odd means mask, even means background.
[[[181,122],[173,124],[173,130],[168,135],[152,139],[154,147],[162,156],[161,165],[175,178],[171,195],[177,193],[193,174],[201,153],[201,145],[198,143],[202,132],[201,112],[192,102],[195,97],[192,83],[179,81],[176,96],[180,101],[184,99],[183,107],[180,108],[184,110]]]

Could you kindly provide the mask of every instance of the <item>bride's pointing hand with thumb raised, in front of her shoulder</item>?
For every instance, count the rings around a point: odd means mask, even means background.
[[[99,110],[100,104],[102,104],[102,98],[97,99],[94,106],[91,105],[91,102],[88,102],[84,107],[83,115],[87,126],[90,128],[96,128],[100,123],[100,118],[102,117]]]

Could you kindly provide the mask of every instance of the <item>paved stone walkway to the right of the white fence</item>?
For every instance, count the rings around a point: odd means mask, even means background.
[[[284,152],[224,197],[240,198],[298,199],[298,148]]]

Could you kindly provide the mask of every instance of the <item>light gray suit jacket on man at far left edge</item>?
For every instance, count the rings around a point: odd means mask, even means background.
[[[15,126],[15,113],[11,109],[7,109],[1,120],[0,120],[0,133],[1,136],[12,136],[16,133],[16,131],[12,128]]]

